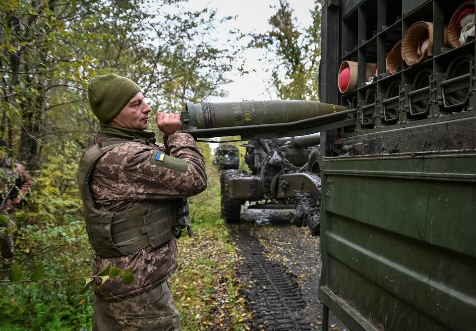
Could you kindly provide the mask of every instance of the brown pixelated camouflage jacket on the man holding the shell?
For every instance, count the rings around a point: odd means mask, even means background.
[[[110,137],[118,135],[100,129],[92,145]],[[153,135],[147,140],[155,143]],[[186,172],[152,164],[153,147],[132,141],[120,144],[99,159],[91,174],[90,188],[98,209],[121,212],[145,201],[189,197],[206,188],[205,162],[191,135],[177,131],[164,138],[164,144],[156,145],[164,153],[185,160]],[[98,280],[93,284],[94,291],[105,301],[118,301],[142,293],[165,281],[177,268],[177,258],[175,240],[150,252],[141,249],[117,258],[95,255],[94,275],[112,263],[122,270],[132,268],[134,281],[126,286],[115,279],[98,288]]]

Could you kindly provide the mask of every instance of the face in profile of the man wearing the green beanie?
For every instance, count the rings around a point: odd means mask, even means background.
[[[149,105],[144,101],[144,95],[137,93],[110,124],[127,129],[145,130],[149,122]]]

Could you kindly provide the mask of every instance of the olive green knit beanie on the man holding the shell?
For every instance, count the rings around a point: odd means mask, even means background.
[[[140,92],[140,87],[129,78],[109,74],[89,81],[89,105],[99,122],[107,124]]]

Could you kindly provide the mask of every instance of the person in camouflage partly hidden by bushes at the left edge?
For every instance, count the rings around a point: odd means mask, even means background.
[[[21,207],[31,187],[31,176],[26,172],[23,165],[11,159],[6,153],[6,142],[0,139],[0,214],[9,216]],[[3,227],[12,227],[13,223],[8,220]],[[1,256],[6,265],[13,262],[15,256],[13,232],[1,238]]]

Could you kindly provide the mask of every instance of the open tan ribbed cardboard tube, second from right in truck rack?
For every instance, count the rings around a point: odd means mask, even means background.
[[[445,26],[444,44],[448,46],[448,38],[446,34],[447,26]],[[418,43],[428,38],[428,48],[421,55],[416,53]],[[415,65],[423,61],[427,55],[433,55],[433,23],[416,22],[413,24],[403,37],[402,41],[402,57],[408,65]]]

